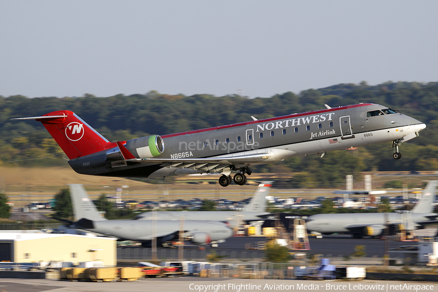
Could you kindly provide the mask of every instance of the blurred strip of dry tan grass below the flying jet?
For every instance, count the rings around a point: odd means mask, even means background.
[[[370,174],[370,173],[367,173]],[[354,189],[364,189],[363,176],[355,178]],[[67,188],[70,183],[84,184],[87,192],[92,198],[101,194],[115,195],[116,188],[122,188],[123,200],[166,200],[176,199],[219,199],[242,200],[252,197],[257,181],[272,180],[273,178],[291,178],[293,174],[253,174],[249,183],[244,186],[231,184],[228,187],[221,187],[217,183],[218,176],[186,176],[166,178],[164,181],[157,179],[146,179],[146,182],[139,182],[124,178],[99,177],[77,174],[66,164],[65,166],[52,167],[0,167],[0,192],[5,193],[9,201],[15,206],[22,206],[31,201],[49,201],[57,192]],[[374,173],[372,174],[373,189],[382,188],[388,181],[399,180],[403,183],[418,185],[428,180],[437,180],[435,172],[424,172],[422,175],[410,175],[409,173]],[[202,181],[199,183],[199,181]],[[278,186],[280,182],[274,184]],[[126,187],[127,186],[127,187]],[[301,197],[305,199],[318,196],[333,196],[335,189],[290,189],[287,185],[283,188],[272,188],[270,195],[290,198]],[[345,189],[345,185],[339,185],[338,189]]]

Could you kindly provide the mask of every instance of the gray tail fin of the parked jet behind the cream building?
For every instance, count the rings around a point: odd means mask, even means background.
[[[89,219],[91,221],[106,220],[99,215],[93,201],[88,197],[82,184],[70,184],[70,196],[72,197],[74,220]]]

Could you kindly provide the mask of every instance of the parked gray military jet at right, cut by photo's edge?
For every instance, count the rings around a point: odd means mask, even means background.
[[[376,237],[383,234],[386,225],[389,226],[390,234],[403,228],[422,229],[425,225],[437,223],[438,214],[432,213],[437,184],[438,181],[431,181],[426,185],[421,200],[409,213],[317,214],[306,220],[307,230],[320,234],[344,233],[354,237]]]

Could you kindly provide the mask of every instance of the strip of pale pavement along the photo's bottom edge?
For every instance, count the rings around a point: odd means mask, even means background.
[[[405,289],[403,289],[405,288]],[[241,292],[241,291],[416,291],[438,292],[438,284],[409,281],[307,281],[295,279],[159,278],[134,282],[66,282],[57,280],[0,279],[2,292]]]

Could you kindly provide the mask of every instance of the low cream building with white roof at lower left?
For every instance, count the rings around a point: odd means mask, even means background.
[[[116,266],[116,238],[72,234],[0,233],[0,261],[102,261],[105,266]]]

